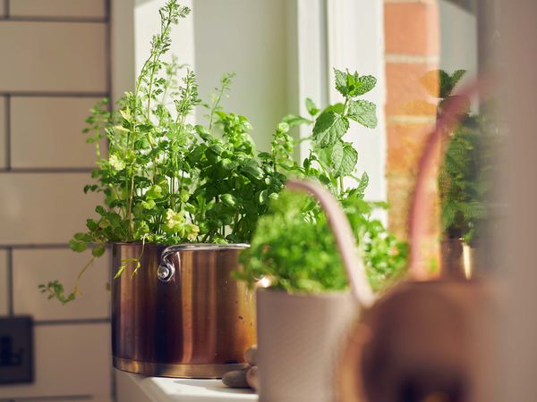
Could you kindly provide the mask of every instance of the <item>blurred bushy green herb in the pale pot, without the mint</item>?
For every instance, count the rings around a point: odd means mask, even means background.
[[[406,264],[405,244],[371,218],[374,207],[361,197],[343,202],[373,289],[384,289]],[[345,268],[325,214],[311,197],[284,191],[260,218],[251,248],[235,276],[253,285],[266,277],[274,289],[322,292],[348,287]]]

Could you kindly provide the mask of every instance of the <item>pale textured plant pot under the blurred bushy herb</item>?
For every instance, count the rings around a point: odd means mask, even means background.
[[[357,312],[350,292],[259,289],[260,402],[334,400],[339,349]]]

